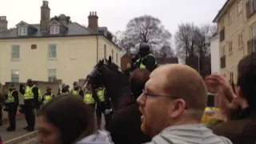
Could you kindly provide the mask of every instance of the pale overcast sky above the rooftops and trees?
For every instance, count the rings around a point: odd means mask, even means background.
[[[180,22],[211,23],[226,0],[48,0],[50,16],[66,14],[73,22],[87,26],[91,10],[98,13],[98,25],[111,32],[125,30],[134,17],[150,14],[162,21],[171,33]],[[0,0],[0,16],[6,15],[8,27],[18,22],[40,22],[42,0]]]

